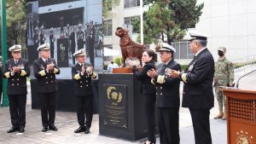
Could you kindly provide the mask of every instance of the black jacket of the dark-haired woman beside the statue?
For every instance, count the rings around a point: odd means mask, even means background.
[[[155,69],[154,62],[148,62],[143,66],[142,72],[137,71],[137,67],[132,67],[132,72],[135,74],[136,78],[142,81],[143,94],[155,94],[155,85],[151,83],[151,78],[148,77],[148,70]]]

